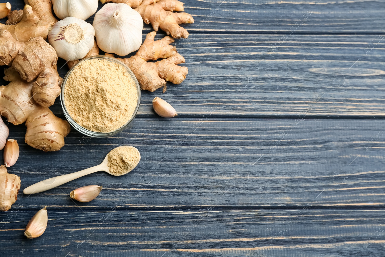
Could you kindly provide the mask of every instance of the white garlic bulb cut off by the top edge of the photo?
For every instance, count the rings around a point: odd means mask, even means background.
[[[52,0],[52,4],[60,20],[67,17],[87,20],[96,12],[98,0]]]

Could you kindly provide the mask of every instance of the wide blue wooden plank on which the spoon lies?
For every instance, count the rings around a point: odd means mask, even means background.
[[[301,120],[302,119],[302,120]],[[201,207],[383,207],[383,120],[142,119],[104,139],[71,132],[58,152],[23,143],[25,128],[11,126],[20,143],[9,168],[23,188],[98,165],[113,148],[132,145],[142,159],[131,173],[94,173],[35,195],[18,196],[21,210]],[[17,132],[16,132],[17,131]],[[89,203],[69,193],[103,185]]]

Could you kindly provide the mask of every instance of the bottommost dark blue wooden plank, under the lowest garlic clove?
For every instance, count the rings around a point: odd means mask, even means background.
[[[385,242],[383,209],[48,211],[33,240],[33,212],[0,213],[0,255],[366,257]]]

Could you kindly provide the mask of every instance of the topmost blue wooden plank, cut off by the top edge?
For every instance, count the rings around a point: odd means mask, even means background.
[[[183,25],[190,34],[228,33],[383,33],[383,0],[357,1],[272,1],[272,0],[189,0],[185,11],[194,24]],[[23,1],[11,0],[12,10],[22,9]],[[99,3],[99,8],[102,4]],[[3,20],[2,22],[4,22]],[[93,21],[90,17],[88,22]],[[145,31],[151,30],[145,26]]]

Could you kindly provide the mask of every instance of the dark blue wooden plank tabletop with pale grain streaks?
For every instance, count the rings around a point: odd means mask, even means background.
[[[195,23],[174,44],[189,74],[164,94],[142,91],[132,128],[105,139],[72,129],[44,153],[9,125],[21,190],[120,145],[142,159],[121,177],[20,191],[0,213],[0,256],[384,256],[385,2],[184,2]],[[179,115],[154,114],[155,96]],[[59,99],[51,109],[64,118]],[[84,185],[103,190],[72,201]],[[45,205],[47,230],[26,239]]]

